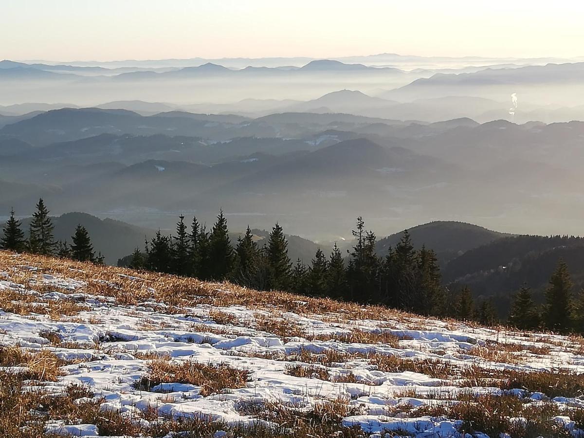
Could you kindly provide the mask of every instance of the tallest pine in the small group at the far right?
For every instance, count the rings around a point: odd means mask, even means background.
[[[544,321],[546,328],[565,333],[572,323],[572,280],[568,265],[559,260],[550,278],[550,286],[545,291]]]

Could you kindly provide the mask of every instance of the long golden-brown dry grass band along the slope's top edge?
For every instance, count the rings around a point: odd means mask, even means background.
[[[36,272],[21,272],[20,266],[36,267]],[[335,314],[340,318],[354,319],[405,319],[414,315],[406,314],[378,305],[362,306],[354,303],[340,303],[329,298],[302,297],[290,293],[273,291],[269,294],[258,293],[255,290],[237,286],[231,283],[211,283],[189,277],[178,277],[153,272],[138,272],[113,266],[98,266],[91,263],[74,262],[73,260],[47,258],[30,254],[14,255],[0,251],[0,267],[11,276],[10,280],[19,284],[29,284],[30,279],[39,274],[51,274],[84,281],[82,290],[97,296],[116,298],[116,304],[131,305],[154,299],[158,303],[177,308],[192,307],[196,304],[210,304],[215,307],[243,305],[248,308],[265,309],[270,312],[296,312],[300,315]],[[29,279],[23,281],[23,279]],[[31,287],[34,288],[34,287]],[[51,287],[54,290],[54,287]],[[1,291],[6,293],[7,290]],[[8,291],[12,296],[14,291]],[[22,300],[20,298],[23,298]],[[0,303],[8,303],[0,296]],[[17,301],[34,301],[34,297],[17,297]],[[66,301],[66,300],[64,300]],[[77,304],[77,303],[72,303]],[[77,304],[79,306],[79,304]],[[20,308],[19,308],[20,307]],[[81,306],[84,308],[83,306]],[[23,314],[30,312],[26,305],[18,304],[5,309],[8,312]],[[61,309],[63,315],[75,314],[80,308],[69,305],[69,309]],[[56,311],[53,312],[56,315]],[[284,332],[294,333],[294,331]],[[276,333],[274,333],[276,334]],[[285,335],[286,336],[286,335]],[[287,336],[291,336],[288,334]]]

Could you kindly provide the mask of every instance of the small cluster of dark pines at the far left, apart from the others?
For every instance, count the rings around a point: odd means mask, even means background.
[[[26,237],[25,232],[22,231],[22,224],[12,209],[10,217],[4,225],[4,236],[0,239],[0,248],[103,264],[103,256],[100,253],[95,254],[89,233],[81,224],[75,228],[75,234],[71,237],[71,245],[68,245],[67,242],[55,241],[54,225],[49,213],[43,199],[39,199],[36,211],[34,211],[30,221],[28,237]]]

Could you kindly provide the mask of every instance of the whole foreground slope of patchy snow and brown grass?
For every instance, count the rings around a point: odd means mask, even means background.
[[[0,252],[0,436],[584,436],[583,345]]]

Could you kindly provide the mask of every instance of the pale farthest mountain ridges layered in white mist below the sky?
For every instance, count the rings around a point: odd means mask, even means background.
[[[576,97],[583,90],[583,60],[562,58],[489,59],[423,58],[380,54],[313,60],[167,60],[119,63],[60,63],[0,61],[0,113],[22,114],[6,103],[71,102],[71,106],[111,101],[115,106],[145,115],[172,109],[237,112],[257,117],[276,108],[310,112],[349,112],[389,119],[439,121],[471,117],[478,121],[499,118],[528,121],[569,121],[582,116]],[[281,62],[281,63],[280,63]],[[263,65],[262,65],[263,64]],[[328,105],[319,95],[339,89],[359,90],[371,97],[399,102],[363,102],[353,97]],[[519,96],[515,116],[509,114],[510,95]],[[456,96],[469,98],[455,106],[429,102]],[[492,102],[472,100],[488,99]],[[291,102],[300,100],[305,103]],[[142,102],[164,102],[140,105]],[[258,104],[258,102],[264,102]],[[279,103],[278,101],[284,101]],[[352,103],[353,101],[353,103]],[[415,102],[416,101],[416,102]],[[98,103],[99,102],[99,103]],[[208,103],[206,103],[208,102]],[[231,102],[231,103],[230,103]],[[239,103],[235,103],[239,102]],[[294,109],[296,106],[296,109]],[[447,108],[441,114],[440,109]],[[465,108],[467,109],[465,112]],[[16,110],[17,112],[11,112]],[[36,107],[44,110],[47,107]],[[562,111],[556,111],[562,109]],[[534,110],[538,112],[534,113]],[[552,113],[553,112],[553,113]],[[263,114],[260,114],[263,113]],[[489,119],[490,117],[490,119]],[[561,117],[571,117],[562,119]],[[537,119],[536,119],[537,120]]]

